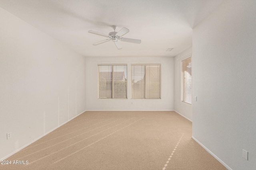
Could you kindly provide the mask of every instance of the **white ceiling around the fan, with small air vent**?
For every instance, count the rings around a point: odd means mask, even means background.
[[[0,0],[0,7],[88,57],[170,56],[192,46],[192,28],[223,0]],[[88,33],[130,29],[126,38],[141,44],[112,41]],[[170,52],[166,49],[174,48]]]

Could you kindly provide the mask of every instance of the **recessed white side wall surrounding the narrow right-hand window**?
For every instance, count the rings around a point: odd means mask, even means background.
[[[192,104],[181,101],[181,61],[190,55],[192,55],[192,47],[174,57],[174,110],[192,121]]]

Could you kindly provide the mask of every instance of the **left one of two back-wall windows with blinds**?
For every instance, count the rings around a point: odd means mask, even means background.
[[[98,98],[127,99],[127,65],[98,64]]]

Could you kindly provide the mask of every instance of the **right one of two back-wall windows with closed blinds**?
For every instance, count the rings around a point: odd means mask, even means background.
[[[161,99],[161,64],[132,64],[132,99]]]

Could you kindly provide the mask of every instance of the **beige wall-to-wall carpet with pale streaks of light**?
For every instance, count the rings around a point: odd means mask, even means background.
[[[174,111],[86,111],[0,169],[226,170],[191,136],[192,123]]]

